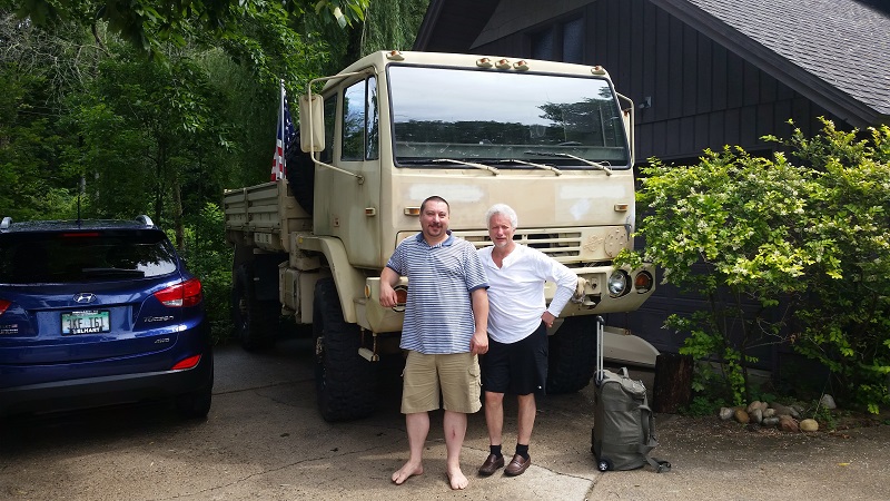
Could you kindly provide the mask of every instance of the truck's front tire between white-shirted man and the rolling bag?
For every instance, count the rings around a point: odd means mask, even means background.
[[[550,336],[547,393],[574,393],[590,384],[596,365],[596,317],[572,316]]]

